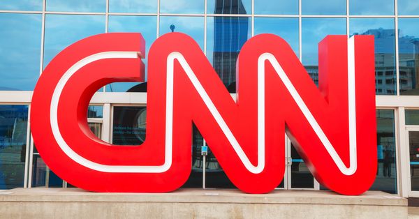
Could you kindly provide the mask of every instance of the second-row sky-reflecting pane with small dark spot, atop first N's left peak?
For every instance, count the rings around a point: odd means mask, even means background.
[[[194,2],[194,1],[191,1]],[[186,33],[204,50],[204,17],[161,16],[159,33]]]

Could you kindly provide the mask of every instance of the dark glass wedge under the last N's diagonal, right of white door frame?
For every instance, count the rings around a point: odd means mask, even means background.
[[[314,188],[314,177],[300,154],[291,144],[291,188]]]

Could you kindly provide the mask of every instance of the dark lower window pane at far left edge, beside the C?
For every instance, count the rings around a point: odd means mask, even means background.
[[[0,105],[0,189],[23,187],[27,105]]]

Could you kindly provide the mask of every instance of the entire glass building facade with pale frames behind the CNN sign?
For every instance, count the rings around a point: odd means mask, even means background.
[[[417,0],[4,0],[0,25],[0,188],[71,186],[43,163],[28,117],[39,75],[77,40],[140,32],[149,50],[165,33],[186,33],[235,93],[237,55],[252,36],[284,38],[317,84],[318,43],[339,34],[374,35],[378,171],[371,189],[419,196]],[[146,91],[147,82],[112,83],[98,90],[88,111],[91,131],[112,144],[141,144]],[[184,186],[233,188],[211,151],[203,163],[203,144],[193,128],[192,172]],[[323,189],[289,141],[286,159],[279,188]]]

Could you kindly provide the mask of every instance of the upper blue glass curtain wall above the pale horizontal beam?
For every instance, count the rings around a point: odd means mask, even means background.
[[[418,8],[416,0],[5,0],[0,2],[0,90],[32,91],[47,63],[87,36],[140,31],[149,49],[157,37],[179,31],[198,42],[231,93],[237,54],[251,36],[274,33],[286,39],[317,82],[317,45],[324,36],[372,34],[376,94],[417,96]],[[145,92],[147,82],[109,84],[100,91]],[[101,133],[97,124],[91,129]],[[212,162],[222,171],[215,158]]]

